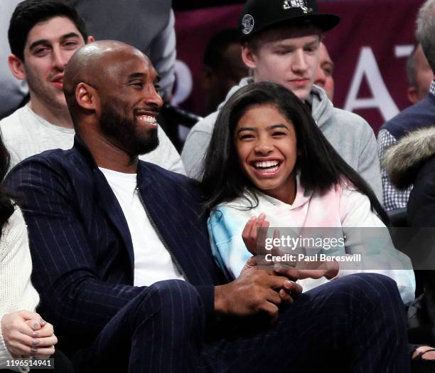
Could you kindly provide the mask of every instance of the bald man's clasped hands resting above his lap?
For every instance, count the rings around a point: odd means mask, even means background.
[[[215,287],[215,311],[235,316],[267,312],[272,322],[276,322],[278,305],[292,302],[291,293],[301,291],[301,285],[288,278],[256,268],[255,258],[251,258],[239,278]]]

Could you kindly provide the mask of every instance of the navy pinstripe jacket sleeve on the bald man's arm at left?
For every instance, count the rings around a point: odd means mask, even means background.
[[[65,175],[30,160],[11,171],[6,186],[16,196],[28,226],[32,282],[41,295],[38,310],[68,335],[92,338],[141,288],[98,277]]]

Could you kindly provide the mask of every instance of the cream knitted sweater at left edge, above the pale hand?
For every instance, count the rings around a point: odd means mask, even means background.
[[[27,227],[21,210],[16,207],[4,225],[0,238],[0,320],[6,313],[35,310],[39,296],[31,284],[31,272]],[[12,357],[0,332],[0,369],[7,367],[7,359]],[[26,372],[23,368],[14,370]]]

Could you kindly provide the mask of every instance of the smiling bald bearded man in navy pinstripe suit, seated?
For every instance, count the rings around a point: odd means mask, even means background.
[[[301,294],[254,262],[223,278],[194,182],[138,160],[157,145],[158,89],[140,51],[87,44],[65,70],[73,149],[9,175],[41,312],[77,371],[409,372],[394,280],[348,275]]]

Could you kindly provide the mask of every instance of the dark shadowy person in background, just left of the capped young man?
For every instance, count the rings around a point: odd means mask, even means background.
[[[218,109],[228,91],[249,75],[242,61],[241,47],[237,28],[225,28],[208,41],[201,77],[205,90],[205,115]]]

